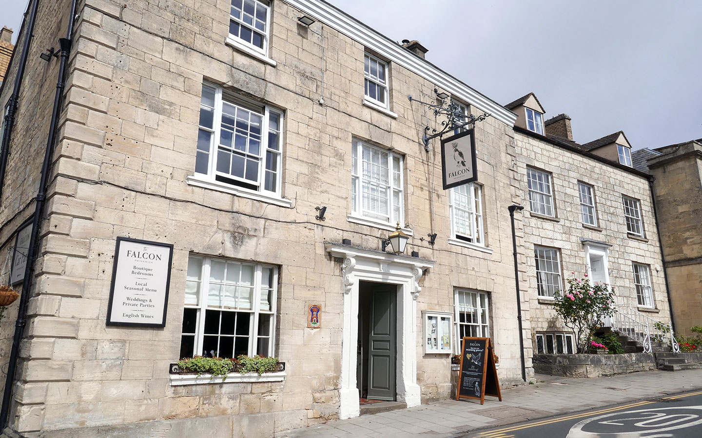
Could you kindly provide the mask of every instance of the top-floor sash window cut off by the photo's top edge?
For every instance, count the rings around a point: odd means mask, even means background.
[[[232,0],[229,34],[245,46],[265,54],[268,49],[270,6],[261,0]]]

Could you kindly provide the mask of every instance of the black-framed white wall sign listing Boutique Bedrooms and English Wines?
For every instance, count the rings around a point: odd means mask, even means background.
[[[173,245],[117,238],[107,325],[165,327]]]

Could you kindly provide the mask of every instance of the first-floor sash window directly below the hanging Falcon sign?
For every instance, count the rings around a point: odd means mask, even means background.
[[[470,183],[453,187],[450,209],[453,236],[484,245],[481,186]]]

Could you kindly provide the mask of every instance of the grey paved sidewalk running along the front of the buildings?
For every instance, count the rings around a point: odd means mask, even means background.
[[[507,425],[600,406],[702,389],[702,369],[644,371],[600,378],[536,374],[539,383],[502,390],[479,400],[444,400],[410,409],[335,420],[280,432],[279,438],[448,438],[459,432]]]

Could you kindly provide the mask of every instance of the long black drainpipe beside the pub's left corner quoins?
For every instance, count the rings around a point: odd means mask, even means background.
[[[22,331],[24,331],[25,323],[27,322],[27,304],[29,303],[29,292],[32,287],[32,278],[34,278],[34,264],[37,261],[37,249],[39,247],[39,227],[41,226],[42,211],[46,203],[46,181],[48,180],[48,168],[51,163],[53,145],[56,139],[56,125],[61,110],[61,101],[63,97],[64,82],[66,79],[66,65],[68,63],[68,55],[71,51],[73,22],[76,14],[76,1],[71,1],[71,10],[68,15],[68,28],[66,38],[58,40],[61,50],[60,66],[58,69],[58,81],[56,83],[56,93],[53,97],[53,112],[51,113],[51,124],[48,130],[48,138],[46,139],[46,150],[44,151],[44,163],[41,165],[41,181],[39,182],[39,192],[34,208],[34,217],[32,218],[32,235],[29,238],[29,249],[27,250],[27,268],[25,271],[25,280],[22,282],[22,295],[20,296],[20,306],[17,313],[17,321],[15,322],[15,336],[12,341],[12,351],[10,353],[10,363],[7,369],[7,378],[5,381],[5,391],[2,397],[2,410],[0,411],[0,431],[5,429],[8,423],[8,413],[10,412],[10,404],[12,401],[12,387],[15,382],[15,371],[17,371],[17,362],[20,356],[20,341],[22,341]]]

